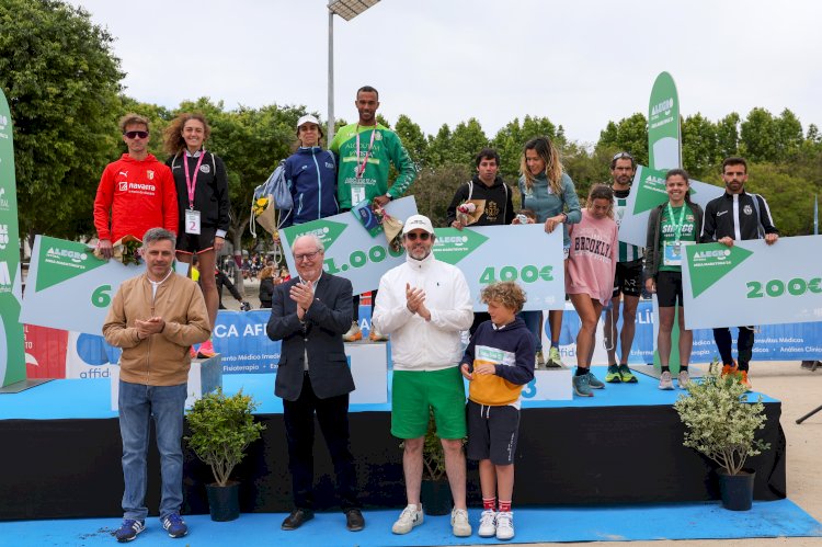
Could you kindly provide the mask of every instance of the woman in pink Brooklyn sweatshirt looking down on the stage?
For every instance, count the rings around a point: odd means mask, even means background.
[[[590,360],[596,324],[614,290],[617,232],[614,192],[605,184],[594,184],[582,209],[582,220],[568,228],[571,250],[566,270],[566,293],[582,321],[576,335],[576,373],[573,377],[573,390],[580,397],[593,397],[592,388],[605,387],[591,374]]]

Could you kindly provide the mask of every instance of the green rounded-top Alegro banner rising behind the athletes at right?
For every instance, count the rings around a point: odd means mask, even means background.
[[[680,98],[673,77],[662,72],[651,89],[648,105],[648,157],[653,169],[682,167]]]

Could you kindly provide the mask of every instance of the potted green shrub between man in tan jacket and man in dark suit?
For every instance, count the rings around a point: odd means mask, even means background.
[[[260,438],[265,429],[254,422],[252,412],[258,406],[242,390],[227,397],[218,388],[204,395],[186,412],[191,435],[185,440],[214,474],[215,482],[206,485],[213,521],[233,521],[240,515],[240,483],[229,479],[246,456],[248,445]]]

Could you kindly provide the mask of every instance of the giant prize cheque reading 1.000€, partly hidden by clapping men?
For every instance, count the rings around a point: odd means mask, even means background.
[[[416,202],[407,196],[390,202],[385,209],[404,221],[416,214]],[[383,232],[372,236],[351,212],[290,226],[282,233],[283,253],[292,275],[297,275],[292,244],[298,237],[312,233],[326,248],[323,269],[351,281],[355,295],[376,289],[383,274],[406,260],[404,250],[392,250]]]

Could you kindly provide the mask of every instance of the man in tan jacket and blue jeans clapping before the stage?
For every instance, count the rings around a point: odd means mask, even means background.
[[[123,524],[117,542],[142,532],[148,516],[146,453],[151,418],[160,452],[160,521],[171,537],[189,533],[183,503],[183,413],[192,344],[210,337],[203,293],[172,270],[174,233],[151,228],[142,239],[146,273],[123,283],[103,324],[119,358],[119,432],[123,437]]]

